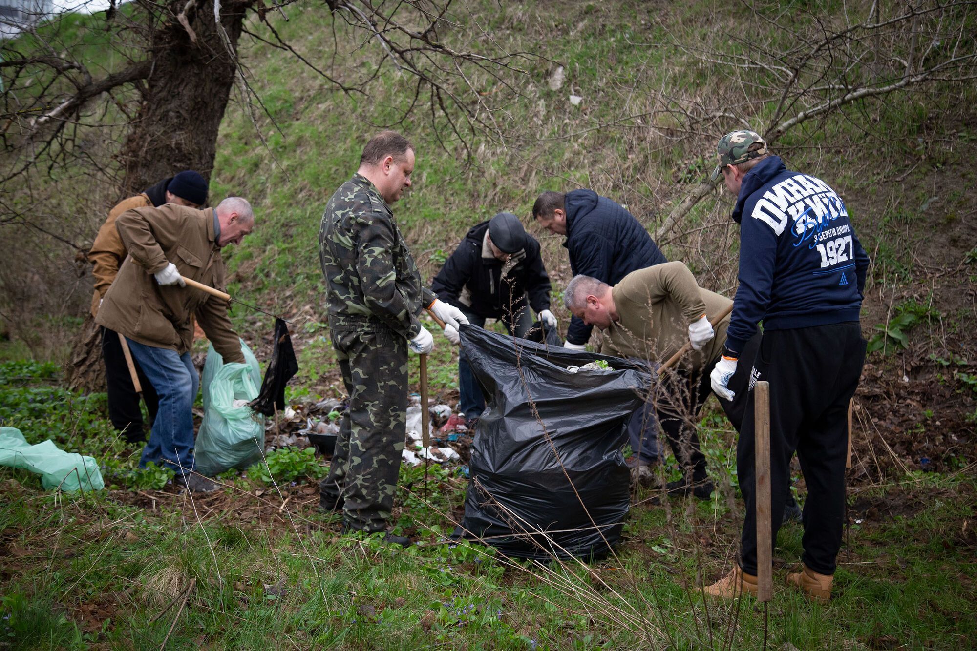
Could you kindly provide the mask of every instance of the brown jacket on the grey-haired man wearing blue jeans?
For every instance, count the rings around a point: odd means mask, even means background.
[[[122,213],[115,227],[129,257],[108,288],[95,321],[140,344],[183,354],[193,343],[195,314],[224,360],[243,362],[227,304],[190,287],[161,286],[152,275],[173,263],[188,278],[224,288],[224,261],[214,238],[214,209],[172,203],[136,208]]]

